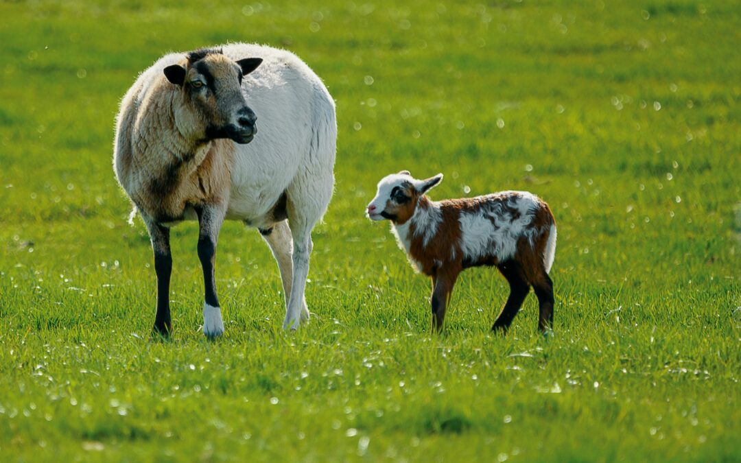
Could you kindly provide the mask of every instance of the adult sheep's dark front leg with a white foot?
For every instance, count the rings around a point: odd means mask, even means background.
[[[199,221],[198,258],[203,268],[205,301],[203,303],[203,333],[209,338],[224,333],[224,321],[219,299],[216,297],[216,279],[214,277],[214,259],[216,259],[216,242],[219,230],[224,223],[226,210],[216,204],[205,204],[196,207]]]

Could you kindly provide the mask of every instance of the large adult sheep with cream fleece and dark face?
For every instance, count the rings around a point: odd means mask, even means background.
[[[224,332],[214,257],[225,219],[257,227],[273,251],[283,327],[308,319],[311,230],[332,196],[336,136],[327,88],[285,50],[226,44],[173,53],[139,76],[121,102],[113,164],[152,242],[156,333],[172,330],[170,226],[189,219],[199,221],[206,336]]]

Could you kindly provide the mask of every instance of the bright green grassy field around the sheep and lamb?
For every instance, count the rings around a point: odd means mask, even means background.
[[[0,460],[738,461],[741,8],[732,1],[0,1]],[[113,119],[168,50],[293,50],[337,103],[313,318],[226,224],[227,333],[199,331],[197,227],[173,231],[175,333],[150,339],[144,225]],[[259,115],[258,115],[259,116]],[[445,336],[376,182],[551,204],[556,331],[468,270]]]

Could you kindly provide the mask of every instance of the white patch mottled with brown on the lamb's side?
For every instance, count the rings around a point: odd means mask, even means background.
[[[507,191],[491,197],[495,199],[497,196],[503,199],[484,205],[473,213],[461,213],[461,248],[468,259],[475,261],[494,253],[499,261],[505,261],[516,253],[520,237],[524,236],[533,243],[537,230],[530,224],[538,207],[536,196]],[[506,199],[508,197],[511,200]]]

